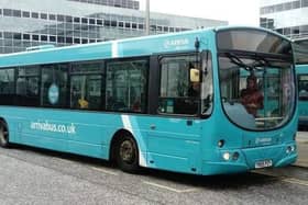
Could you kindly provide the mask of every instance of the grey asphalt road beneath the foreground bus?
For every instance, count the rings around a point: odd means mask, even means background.
[[[0,148],[0,204],[308,204],[308,169],[196,176],[16,146]]]

